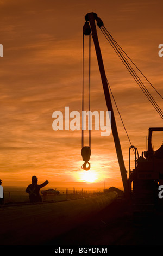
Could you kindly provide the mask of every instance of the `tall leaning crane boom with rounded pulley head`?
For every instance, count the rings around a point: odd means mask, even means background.
[[[105,69],[104,69],[101,49],[99,46],[99,41],[98,41],[98,36],[97,36],[97,31],[96,31],[95,20],[97,20],[97,19],[99,19],[99,18],[97,17],[96,13],[88,13],[85,16],[86,22],[89,22],[90,27],[91,27],[92,38],[93,38],[93,42],[95,45],[96,56],[97,56],[97,61],[98,61],[98,66],[99,66],[99,72],[101,74],[101,80],[102,80],[102,84],[103,84],[106,106],[108,108],[108,111],[111,112],[111,130],[112,130],[112,135],[114,138],[118,163],[120,166],[120,172],[121,172],[121,177],[122,177],[122,182],[123,182],[124,193],[126,194],[126,196],[128,196],[129,187],[128,187],[127,172],[126,172],[126,168],[124,165],[120,139],[118,136],[117,126],[116,126],[115,115],[114,115],[114,111],[112,108],[112,103],[111,103],[108,83],[107,83],[107,79],[106,79],[106,75],[105,75]]]

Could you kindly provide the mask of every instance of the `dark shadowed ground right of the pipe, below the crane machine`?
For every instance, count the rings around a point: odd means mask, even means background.
[[[139,220],[135,219],[131,206],[119,197],[103,211],[92,216],[82,225],[68,231],[45,245],[162,245],[162,213],[155,213]],[[140,216],[139,216],[140,217]]]

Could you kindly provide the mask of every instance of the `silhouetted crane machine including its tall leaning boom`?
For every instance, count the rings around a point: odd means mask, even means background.
[[[101,26],[103,26],[103,22],[96,13],[86,14],[85,20],[86,22],[83,27],[83,33],[84,35],[90,35],[90,33],[92,35],[105,95],[106,106],[108,108],[108,111],[111,111],[111,130],[114,138],[118,163],[120,166],[124,193],[126,194],[127,198],[131,199],[131,202],[135,206],[136,210],[153,210],[153,208],[158,205],[158,186],[159,184],[161,184],[160,182],[162,182],[163,185],[163,145],[158,150],[153,150],[152,133],[156,131],[163,131],[163,128],[149,128],[148,149],[147,151],[143,152],[141,156],[139,156],[137,148],[131,145],[131,147],[129,148],[129,178],[127,178],[127,171],[124,166],[120,139],[118,136],[114,110],[112,108],[108,82],[105,75],[103,59],[95,25],[96,20],[97,25],[99,26],[99,28],[101,28]],[[161,112],[161,109],[159,109],[160,114]],[[135,168],[133,170],[130,170],[131,149],[134,150],[135,154]]]

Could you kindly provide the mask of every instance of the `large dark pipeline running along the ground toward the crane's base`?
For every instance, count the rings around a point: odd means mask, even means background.
[[[0,208],[0,245],[40,245],[82,224],[117,197],[111,191],[65,202]]]

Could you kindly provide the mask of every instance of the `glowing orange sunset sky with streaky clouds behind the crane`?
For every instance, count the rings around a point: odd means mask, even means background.
[[[92,11],[163,94],[163,57],[158,56],[163,42],[162,1],[1,0],[0,7],[2,185],[27,186],[31,176],[37,175],[39,183],[49,180],[47,188],[103,188],[104,178],[105,187],[122,188],[112,135],[101,137],[101,131],[92,131],[90,162],[96,182],[85,184],[82,132],[54,131],[52,114],[65,106],[82,111],[82,33],[84,16]],[[97,31],[106,76],[131,143],[141,154],[146,150],[148,128],[161,127],[162,119]],[[93,44],[91,54],[91,110],[106,111]],[[147,88],[162,107],[161,98]],[[128,170],[130,144],[116,109],[115,116]]]

